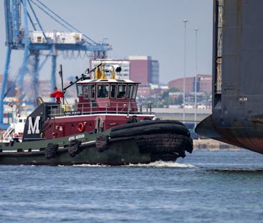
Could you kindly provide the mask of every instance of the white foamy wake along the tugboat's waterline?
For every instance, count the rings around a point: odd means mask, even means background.
[[[101,165],[101,164],[79,164],[74,165],[73,167],[111,167],[109,165]],[[195,166],[191,164],[181,164],[177,162],[164,162],[164,161],[156,161],[150,162],[148,164],[128,164],[123,165],[121,167],[166,167],[166,168],[193,168]]]

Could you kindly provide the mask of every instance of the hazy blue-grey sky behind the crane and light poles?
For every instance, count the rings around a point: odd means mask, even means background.
[[[42,0],[93,40],[109,38],[113,50],[109,56],[123,59],[133,55],[152,56],[160,65],[160,82],[184,76],[184,19],[187,30],[186,76],[196,72],[196,37],[198,27],[198,73],[212,72],[212,0]],[[65,31],[36,9],[45,31]],[[6,54],[3,0],[0,0],[0,72]],[[22,64],[22,52],[13,51],[10,74],[16,75]],[[65,60],[65,75],[78,75],[88,67],[88,59]],[[50,63],[40,77],[50,77]]]

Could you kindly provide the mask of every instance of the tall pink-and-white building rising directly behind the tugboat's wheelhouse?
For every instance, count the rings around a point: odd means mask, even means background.
[[[131,79],[143,85],[159,84],[159,61],[152,60],[151,56],[129,56],[128,59],[97,59],[90,61],[93,69],[100,63],[106,63],[105,70],[111,66],[120,66],[120,79]]]

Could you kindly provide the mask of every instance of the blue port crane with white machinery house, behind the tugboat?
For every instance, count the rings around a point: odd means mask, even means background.
[[[0,125],[3,126],[3,105],[10,89],[17,89],[17,99],[24,98],[23,82],[26,74],[32,77],[33,97],[38,97],[39,72],[48,58],[51,58],[51,91],[56,86],[56,59],[58,52],[85,52],[84,56],[94,59],[103,59],[111,46],[104,41],[97,43],[67,21],[63,20],[53,10],[40,0],[4,0],[6,22],[6,61],[4,65],[1,98],[0,98]],[[58,22],[67,32],[46,32],[38,18],[35,8]],[[31,31],[30,29],[33,29]],[[19,68],[15,82],[7,89],[8,70],[10,68],[11,52],[13,49],[24,50],[22,65]],[[40,63],[41,52],[47,52],[45,59]],[[89,52],[89,54],[87,53]],[[31,69],[29,69],[31,64]],[[0,127],[1,127],[0,126]]]

